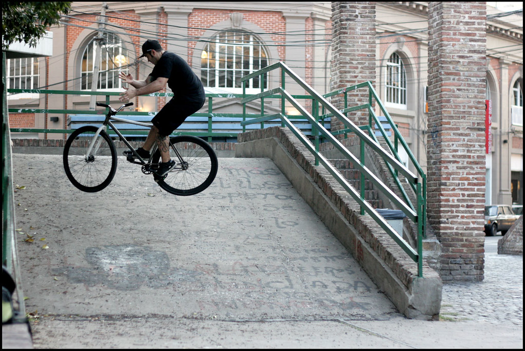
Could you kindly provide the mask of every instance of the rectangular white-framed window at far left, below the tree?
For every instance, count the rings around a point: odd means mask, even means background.
[[[24,62],[24,70],[23,63]],[[36,57],[6,60],[7,89],[38,89],[40,82],[40,62]],[[29,82],[29,86],[27,86]],[[38,93],[8,94],[7,100],[39,98]]]

